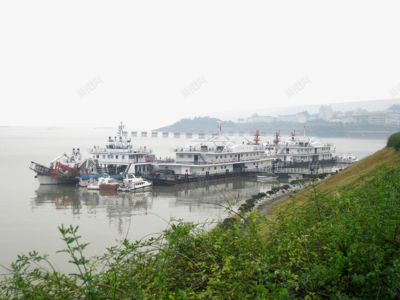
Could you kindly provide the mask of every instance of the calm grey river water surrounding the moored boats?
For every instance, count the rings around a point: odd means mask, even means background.
[[[152,137],[149,131],[147,137],[141,137],[139,130],[131,131],[138,135],[132,138],[134,147],[151,148],[157,157],[172,156],[169,148],[185,146],[189,141],[184,135],[162,137],[159,132],[158,137]],[[140,193],[107,193],[70,185],[40,186],[29,169],[31,161],[48,166],[59,154],[69,154],[72,147],[79,147],[86,156],[88,148],[104,147],[107,137],[115,135],[115,128],[0,127],[0,275],[7,273],[5,267],[17,254],[31,250],[51,254],[49,260],[61,271],[75,271],[65,263],[65,254],[55,253],[64,247],[57,229],[61,224],[79,225],[81,242],[90,242],[86,256],[92,256],[104,253],[106,247],[125,237],[148,238],[165,229],[170,218],[212,226],[208,222],[228,215],[223,206],[231,201],[245,200],[288,180],[233,178],[201,186],[154,186]],[[333,143],[337,154],[351,152],[362,158],[383,148],[386,138],[322,140]]]

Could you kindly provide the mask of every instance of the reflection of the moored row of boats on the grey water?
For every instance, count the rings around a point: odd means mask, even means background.
[[[51,213],[51,208],[56,211],[69,210],[74,218],[79,219],[79,223],[87,222],[88,225],[92,225],[93,218],[98,222],[103,217],[108,220],[108,226],[117,227],[118,231],[123,231],[123,224],[127,225],[131,221],[140,228],[161,228],[165,227],[165,221],[171,217],[193,222],[223,219],[229,213],[225,207],[232,201],[244,202],[251,195],[265,192],[279,184],[282,181],[261,182],[256,177],[230,178],[176,186],[153,186],[151,190],[139,192],[39,185],[32,200],[32,208],[46,207],[48,213]],[[237,210],[238,206],[233,208]],[[143,233],[143,230],[140,232]]]

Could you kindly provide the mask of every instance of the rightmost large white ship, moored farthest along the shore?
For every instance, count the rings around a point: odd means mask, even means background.
[[[304,133],[296,136],[295,130],[284,141],[280,141],[280,132],[276,132],[271,144],[264,143],[267,153],[276,156],[279,162],[289,165],[318,165],[334,163],[335,148],[332,143],[323,143],[317,136],[308,137]]]

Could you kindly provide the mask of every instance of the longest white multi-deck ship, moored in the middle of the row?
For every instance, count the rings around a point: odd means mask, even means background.
[[[244,136],[199,135],[185,147],[169,149],[174,159],[153,163],[154,185],[190,182],[195,177],[214,179],[236,176],[245,168],[271,165],[274,155],[266,154],[262,145]]]

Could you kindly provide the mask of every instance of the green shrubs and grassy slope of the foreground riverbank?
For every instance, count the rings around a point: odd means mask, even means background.
[[[400,153],[385,148],[297,191],[267,215],[206,232],[171,221],[146,241],[88,259],[78,228],[59,228],[76,273],[18,256],[1,299],[397,299]]]

